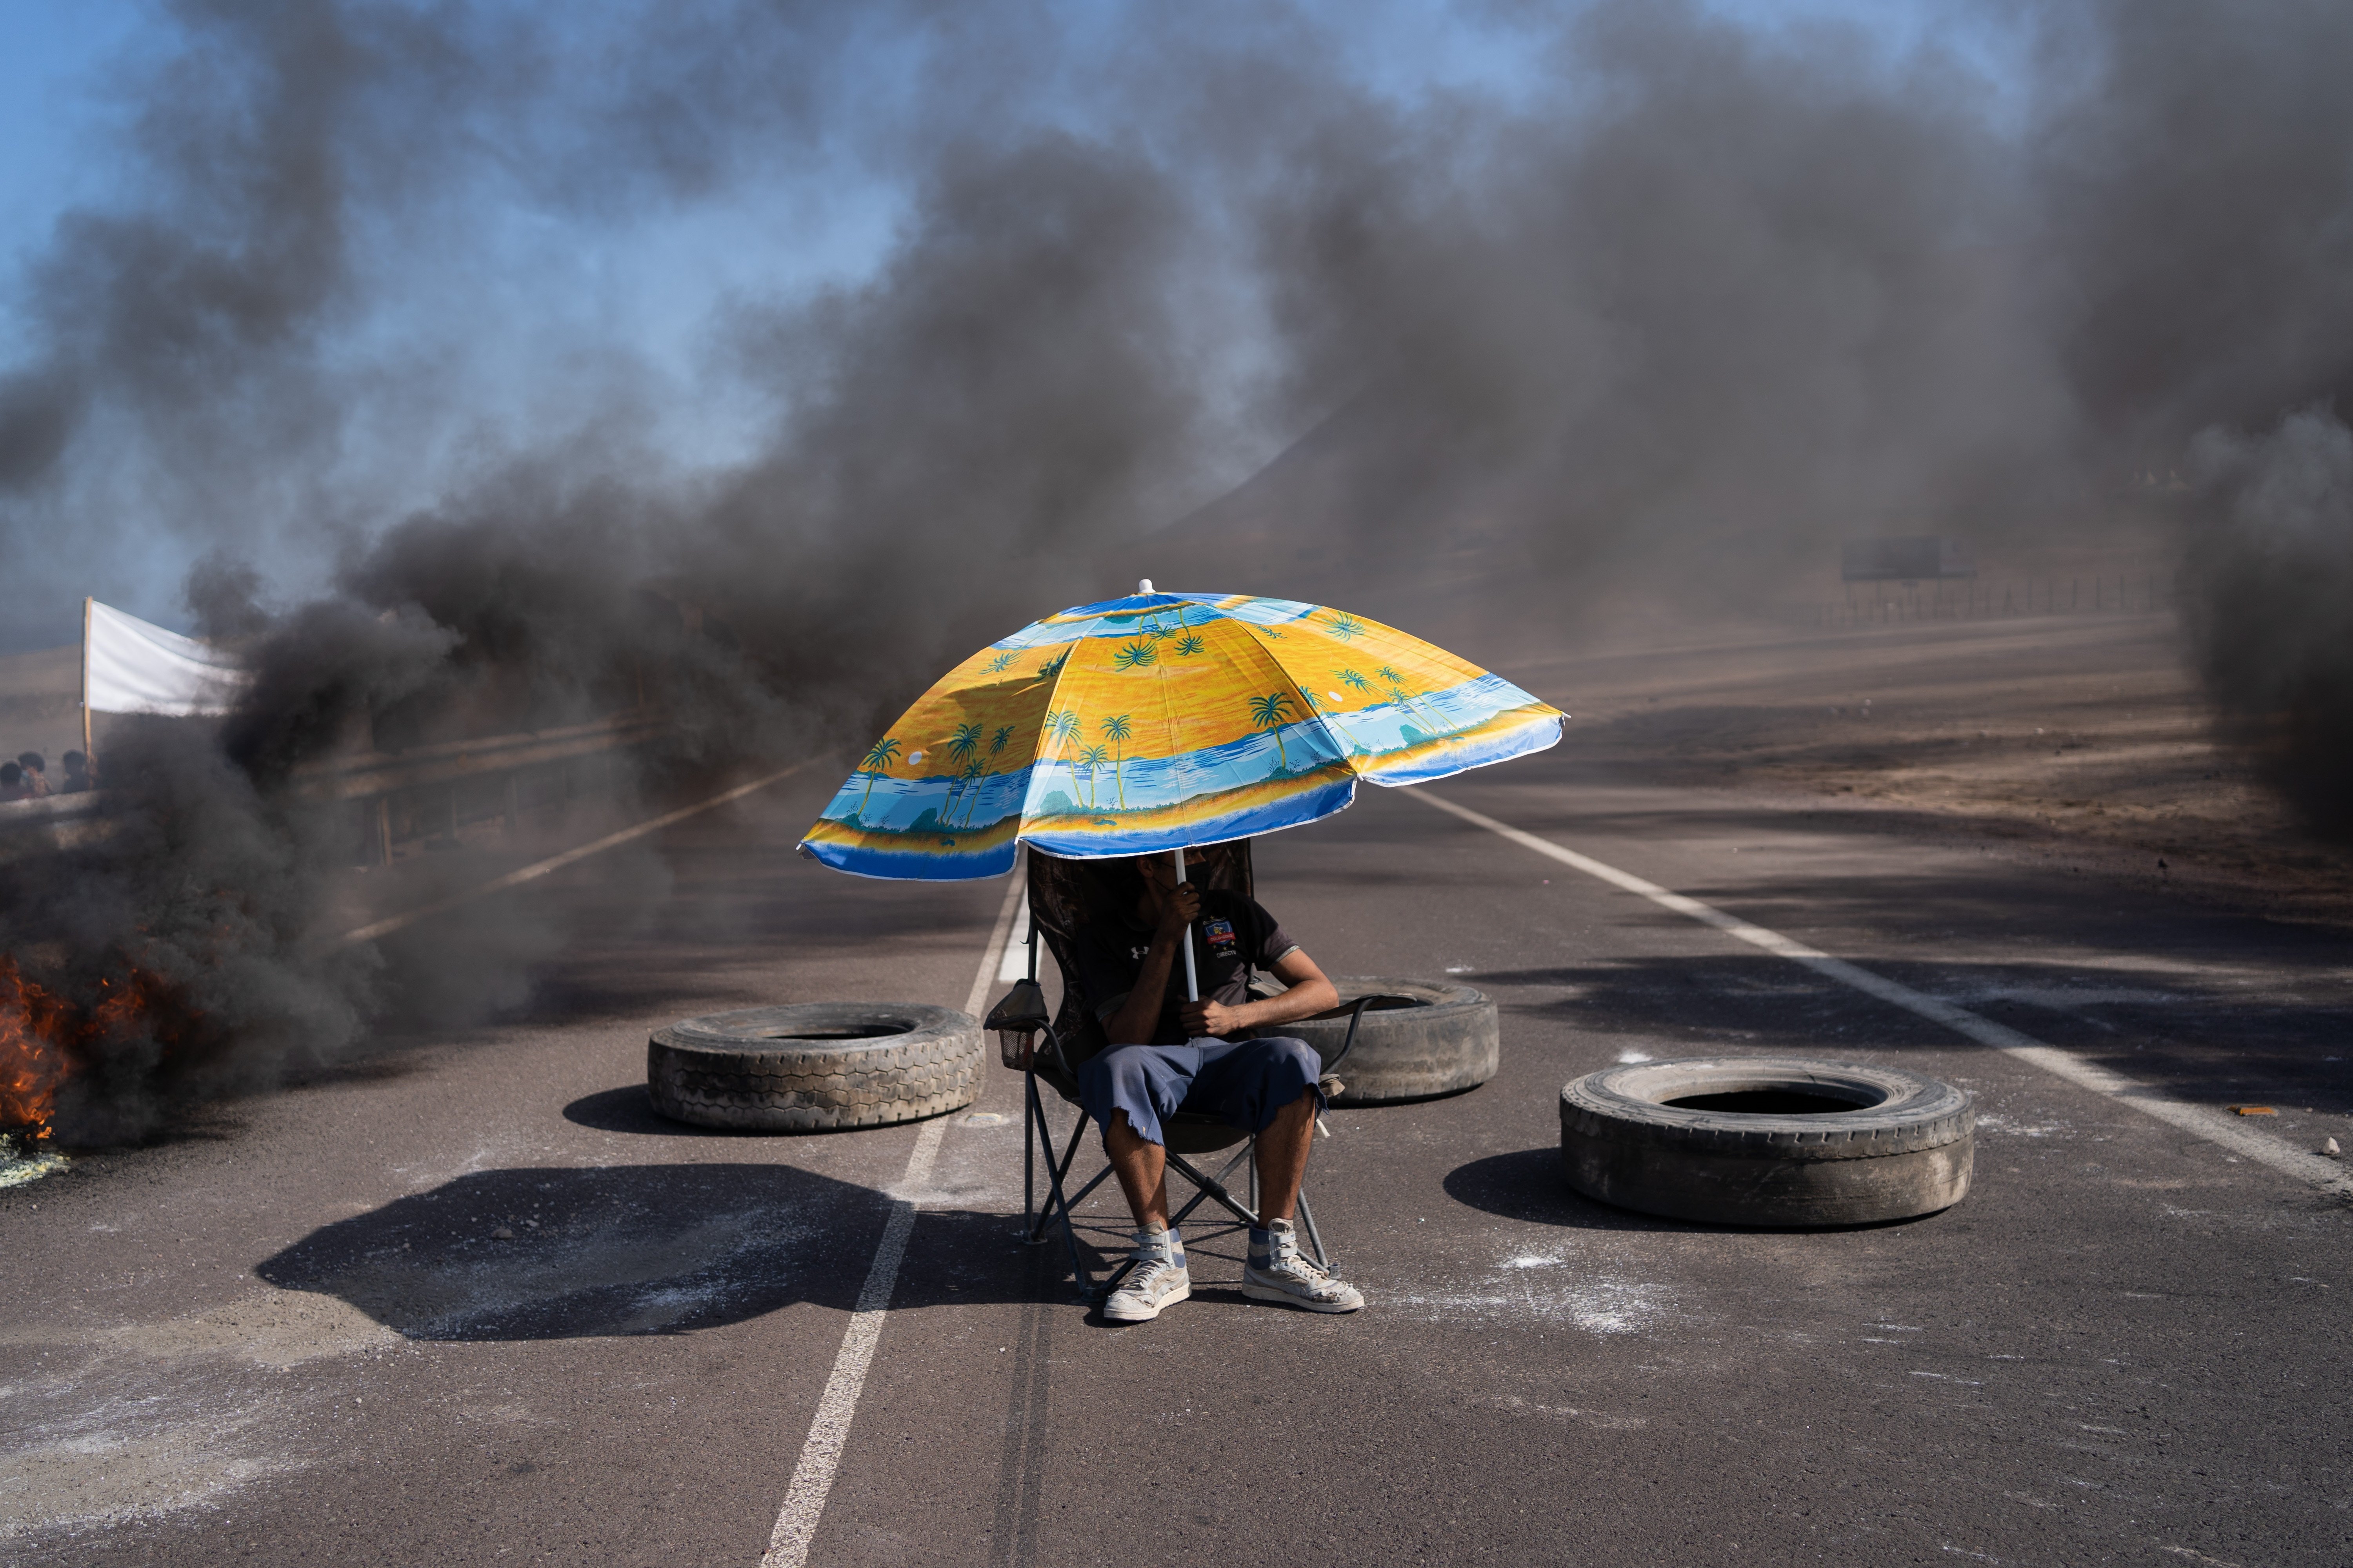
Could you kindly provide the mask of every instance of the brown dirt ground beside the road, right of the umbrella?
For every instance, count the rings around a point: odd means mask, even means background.
[[[2169,611],[1753,628],[1506,672],[1574,715],[1565,745],[1652,783],[1831,797],[1986,853],[2353,926],[2353,851],[2214,741]]]

